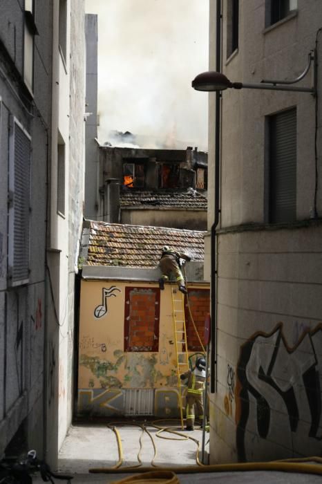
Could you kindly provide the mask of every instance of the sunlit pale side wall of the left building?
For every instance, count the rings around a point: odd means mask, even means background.
[[[47,352],[50,373],[48,434],[51,463],[64,441],[73,413],[73,334],[75,272],[84,203],[85,28],[84,2],[69,0],[66,12],[66,56],[59,48],[59,10],[55,4],[53,41],[53,138],[51,144],[50,315]],[[57,210],[57,144],[65,145],[65,212]],[[54,435],[53,435],[54,434]]]

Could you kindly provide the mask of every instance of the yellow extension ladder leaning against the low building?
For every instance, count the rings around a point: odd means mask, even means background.
[[[173,330],[176,348],[180,419],[181,427],[183,429],[182,384],[180,375],[181,373],[189,370],[186,320],[184,317],[184,294],[178,290],[178,286],[174,287],[171,285],[171,297]]]

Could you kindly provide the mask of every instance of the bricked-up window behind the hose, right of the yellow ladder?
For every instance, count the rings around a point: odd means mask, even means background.
[[[204,344],[205,319],[210,312],[210,291],[209,289],[189,289],[188,296],[193,322],[197,328],[202,344]],[[184,302],[184,315],[186,318],[188,350],[202,351],[202,347],[200,346],[198,336],[193,328],[193,323],[191,322],[191,317],[189,315],[187,297]]]

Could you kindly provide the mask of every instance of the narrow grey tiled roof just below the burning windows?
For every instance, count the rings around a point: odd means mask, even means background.
[[[155,207],[184,208],[185,210],[207,210],[207,197],[193,189],[184,192],[152,192],[127,189],[120,193],[121,208]]]

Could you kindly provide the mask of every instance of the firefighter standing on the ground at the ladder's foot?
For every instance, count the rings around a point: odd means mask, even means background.
[[[193,430],[195,416],[202,422],[204,418],[203,392],[206,380],[206,360],[203,356],[198,357],[193,371],[188,370],[180,375],[181,380],[188,378],[188,389],[186,397],[186,430]]]

